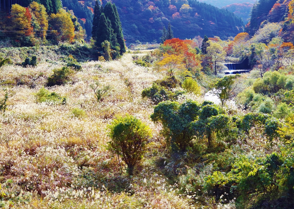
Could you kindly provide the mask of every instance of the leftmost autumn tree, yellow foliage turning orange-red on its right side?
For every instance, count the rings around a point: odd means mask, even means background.
[[[28,8],[13,4],[11,6],[11,30],[17,31],[18,35],[31,36],[33,27],[32,16]]]

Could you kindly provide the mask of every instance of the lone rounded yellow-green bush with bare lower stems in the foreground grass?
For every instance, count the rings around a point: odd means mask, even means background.
[[[108,149],[119,155],[128,165],[128,174],[133,175],[134,166],[146,152],[147,141],[152,137],[149,126],[131,115],[115,119],[108,125]]]

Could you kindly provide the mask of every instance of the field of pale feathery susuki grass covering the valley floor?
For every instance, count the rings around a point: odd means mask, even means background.
[[[141,98],[162,75],[133,64],[126,53],[120,60],[83,63],[70,83],[45,87],[66,98],[65,105],[38,100],[47,78],[61,67],[55,60],[34,68],[8,65],[0,72],[2,85],[17,86],[0,116],[0,208],[193,208],[152,165],[143,163],[128,178],[125,165],[120,162],[121,174],[117,157],[106,150],[107,124],[128,113],[152,129],[146,159],[152,146],[163,151],[161,127],[149,118],[153,105]],[[90,87],[96,81],[111,86],[99,102]],[[185,98],[201,100],[188,93],[179,101]]]

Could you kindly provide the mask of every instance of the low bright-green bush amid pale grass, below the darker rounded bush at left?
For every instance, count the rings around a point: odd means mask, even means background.
[[[48,103],[57,103],[57,104],[66,104],[66,98],[62,98],[59,94],[41,88],[36,94],[37,103],[48,102]]]

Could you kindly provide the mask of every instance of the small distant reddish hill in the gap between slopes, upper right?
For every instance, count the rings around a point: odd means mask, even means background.
[[[230,4],[222,7],[222,9],[227,9],[228,11],[233,12],[237,17],[242,17],[244,24],[247,24],[250,19],[252,7],[252,3],[245,2]]]

